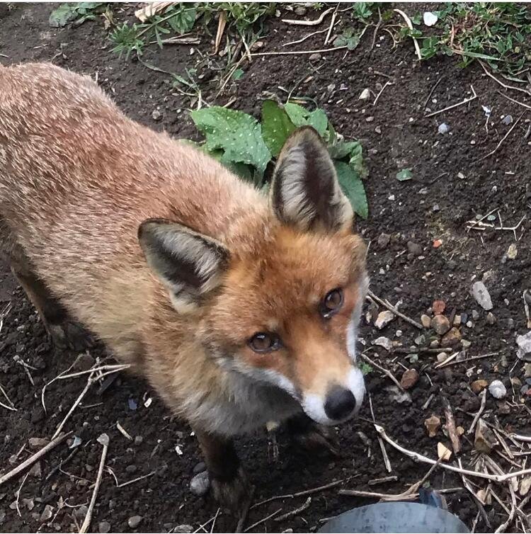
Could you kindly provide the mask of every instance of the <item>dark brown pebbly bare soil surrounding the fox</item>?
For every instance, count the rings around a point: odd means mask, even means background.
[[[48,17],[53,7],[52,4],[18,4],[11,11],[0,13],[2,64],[52,60],[76,72],[92,76],[98,73],[101,86],[113,94],[120,108],[133,119],[156,130],[167,130],[176,137],[195,137],[186,112],[188,99],[172,89],[169,76],[147,69],[138,61],[118,58],[110,51],[100,21],[86,22],[79,27],[50,28]],[[420,7],[404,4],[401,8],[413,13]],[[282,43],[309,33],[307,28],[286,25],[280,19],[273,19],[268,27],[268,38],[261,51],[280,50]],[[370,353],[371,358],[392,370],[398,379],[405,368],[413,367],[421,373],[420,380],[409,390],[411,402],[402,403],[396,399],[396,392],[389,390],[393,384],[388,377],[377,369],[367,375],[375,419],[387,434],[410,450],[436,458],[438,441],[448,447],[450,441],[442,431],[436,438],[428,438],[423,421],[431,414],[442,418],[439,392],[444,392],[455,411],[457,425],[469,428],[472,418],[464,412],[472,413],[479,408],[479,397],[469,388],[478,377],[489,382],[495,378],[502,380],[508,389],[507,404],[487,395],[489,421],[498,421],[505,431],[529,432],[531,424],[525,403],[529,404],[530,397],[524,395],[520,399],[520,387],[514,389],[510,382],[510,377],[518,377],[525,384],[523,363],[515,356],[515,336],[527,331],[522,294],[529,287],[531,268],[529,218],[516,234],[493,229],[467,232],[466,225],[467,220],[494,209],[499,210],[506,226],[516,225],[524,215],[529,217],[530,146],[525,138],[529,113],[522,116],[495,154],[481,159],[496,149],[511,126],[501,123],[501,116],[510,114],[517,120],[525,108],[503,98],[498,93],[501,87],[486,77],[479,66],[459,69],[455,59],[447,57],[419,65],[411,42],[392,49],[389,35],[382,32],[371,50],[372,28],[367,34],[370,35],[365,35],[358,50],[344,57],[344,52],[338,51],[312,62],[307,55],[256,58],[244,65],[244,76],[237,84],[229,84],[228,92],[217,103],[225,103],[234,96],[234,107],[258,116],[263,91],[273,91],[285,98],[279,87],[290,91],[298,84],[297,93],[314,98],[329,114],[336,130],[346,137],[360,139],[369,170],[365,187],[370,217],[359,221],[359,229],[370,242],[368,264],[372,291],[393,304],[400,301],[401,312],[417,321],[422,313],[428,312],[433,300],[444,300],[447,314],[455,310],[457,314],[467,314],[467,321],[473,321],[460,327],[463,338],[472,342],[469,356],[494,353],[472,363],[457,363],[442,369],[435,368],[436,353],[421,353],[413,363],[404,353],[387,353],[381,348],[377,351],[379,358]],[[323,36],[310,38],[304,46],[282,50],[322,48]],[[144,61],[183,74],[185,65],[193,66],[200,52],[211,50],[211,39],[203,36],[202,44],[193,48],[195,55],[188,45],[168,46],[163,50],[152,48]],[[301,81],[308,76],[312,79]],[[469,97],[471,86],[477,98],[426,118],[424,103],[441,76],[444,78],[427,103],[430,110]],[[386,81],[392,81],[393,85],[384,89],[375,106],[372,106],[374,96],[368,101],[358,99],[366,87],[377,93]],[[213,101],[214,91],[207,88],[203,98]],[[523,93],[518,93],[516,98],[531,104],[531,99]],[[492,110],[488,123],[481,106]],[[152,118],[155,109],[161,111],[161,120]],[[442,122],[450,126],[450,132],[445,135],[438,133]],[[396,173],[404,168],[411,168],[411,181],[396,179]],[[389,234],[389,239],[382,234]],[[438,247],[434,246],[436,239],[442,241]],[[511,260],[506,252],[513,243],[518,247],[518,255]],[[415,251],[414,245],[420,249]],[[475,280],[484,280],[489,289],[495,324],[487,322],[487,312],[470,294]],[[0,264],[2,309],[5,313],[3,324],[0,322],[0,384],[17,411],[0,407],[0,435],[4,436],[0,441],[0,474],[35,452],[28,442],[30,438],[53,435],[86,384],[85,375],[47,386],[45,411],[41,404],[43,385],[69,368],[76,354],[52,346],[35,309],[17,287],[6,264]],[[478,312],[477,319],[472,319],[474,310]],[[360,343],[369,347],[378,336],[387,336],[407,347],[414,344],[419,334],[418,329],[403,319],[396,319],[377,331],[364,318]],[[429,335],[426,331],[426,336]],[[17,363],[13,359],[16,356],[30,365],[30,369]],[[74,370],[104,356],[105,349],[96,348]],[[178,526],[184,531],[183,525],[195,530],[216,515],[217,506],[211,496],[194,496],[189,489],[194,469],[201,461],[190,428],[173,419],[147,382],[139,377],[121,374],[103,392],[102,389],[91,388],[67,421],[65,429],[79,437],[81,445],[61,470],[57,466],[71,455],[72,439],[45,455],[38,469],[28,477],[15,477],[0,486],[1,531],[77,531],[91,499],[102,450],[96,438],[103,432],[110,437],[106,462],[109,472],[105,471],[98,493],[92,531],[105,530],[102,522],[109,523],[115,532],[135,530],[127,524],[132,516],[142,516],[136,530],[144,532],[169,531]],[[429,406],[423,408],[432,394]],[[151,404],[147,399],[152,399]],[[5,399],[0,397],[0,400]],[[387,472],[377,435],[369,421],[368,402],[361,415],[362,419],[338,427],[341,458],[309,458],[280,433],[280,455],[274,461],[268,453],[265,433],[240,438],[237,448],[256,484],[256,500],[340,480],[344,482],[338,487],[401,493],[426,474],[428,465],[413,462],[389,445],[386,449],[392,471]],[[118,423],[133,441],[119,431]],[[368,448],[360,432],[370,440]],[[464,465],[469,465],[472,458],[473,441],[474,436],[462,438]],[[499,456],[495,458],[503,470],[510,469],[508,462]],[[151,476],[117,487],[110,470],[120,484],[143,475]],[[368,484],[372,479],[389,475],[394,475],[396,480]],[[478,509],[462,485],[458,475],[440,469],[430,477],[432,488],[459,488],[446,493],[445,499],[450,511],[471,527]],[[375,499],[339,496],[338,487],[316,492],[309,508],[299,515],[278,523],[271,519],[252,530],[313,531],[321,526],[322,518],[375,502]],[[20,513],[16,509],[19,489]],[[508,501],[506,486],[496,486],[496,491]],[[251,509],[246,525],[278,509],[282,513],[295,509],[305,499],[306,496],[277,499]],[[495,499],[492,501],[493,504],[485,506],[491,526],[479,516],[476,531],[494,530],[506,520],[506,512]],[[52,517],[41,517],[47,505],[52,506]],[[209,523],[206,528],[211,526]],[[235,526],[235,518],[221,513],[213,530],[233,531]]]

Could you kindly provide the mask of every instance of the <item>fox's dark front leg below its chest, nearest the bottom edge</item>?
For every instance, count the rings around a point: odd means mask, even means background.
[[[237,512],[249,499],[249,482],[232,440],[217,434],[195,430],[205,458],[215,499],[224,508]]]

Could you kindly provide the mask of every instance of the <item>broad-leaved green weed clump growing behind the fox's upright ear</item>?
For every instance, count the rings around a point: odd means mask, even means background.
[[[200,146],[245,180],[267,188],[266,169],[296,127],[315,128],[329,147],[341,188],[353,210],[368,215],[362,178],[367,174],[358,141],[345,141],[336,133],[321,108],[308,110],[296,103],[264,101],[261,123],[242,111],[212,106],[195,110],[191,117],[205,135]]]

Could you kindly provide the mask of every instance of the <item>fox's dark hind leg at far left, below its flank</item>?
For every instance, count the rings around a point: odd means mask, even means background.
[[[35,274],[28,256],[20,245],[10,254],[11,271],[40,314],[43,324],[59,348],[81,351],[91,346],[89,333],[83,326],[69,319],[67,310],[52,295],[45,283]]]

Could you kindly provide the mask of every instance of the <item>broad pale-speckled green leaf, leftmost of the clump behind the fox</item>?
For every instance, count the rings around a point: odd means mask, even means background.
[[[242,111],[220,106],[195,110],[190,116],[198,130],[205,135],[207,150],[223,149],[224,164],[245,163],[263,174],[271,154],[263,142],[261,127],[255,118]]]

